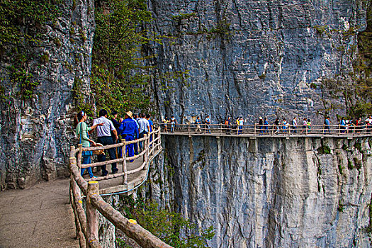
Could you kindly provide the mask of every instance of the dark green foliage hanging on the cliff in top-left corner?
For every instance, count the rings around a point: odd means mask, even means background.
[[[32,98],[39,84],[30,73],[29,61],[35,59],[33,47],[40,45],[43,25],[53,23],[60,16],[61,3],[62,0],[0,1],[0,52],[9,57],[11,85],[23,99]],[[41,63],[48,61],[48,55],[40,57]]]

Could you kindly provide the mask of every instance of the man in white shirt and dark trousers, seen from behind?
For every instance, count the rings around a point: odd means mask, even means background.
[[[113,138],[111,137],[111,131],[115,136],[115,140],[118,140],[118,132],[116,131],[113,122],[111,120],[108,120],[107,111],[105,109],[101,109],[101,111],[99,111],[99,118],[94,120],[93,125],[102,123],[103,125],[98,125],[98,127],[96,128],[98,143],[101,143],[102,145],[113,145],[114,141]],[[111,160],[116,159],[115,148],[108,149],[108,154],[110,155]],[[104,152],[103,154],[99,154],[97,157],[98,162],[106,161],[106,154]],[[106,176],[108,174],[108,171],[106,170],[106,164],[101,166],[101,170],[102,176]],[[118,168],[116,168],[116,163],[111,164],[111,172],[113,174],[118,172]]]

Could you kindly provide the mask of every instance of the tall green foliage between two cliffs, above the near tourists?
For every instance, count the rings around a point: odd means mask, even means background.
[[[96,108],[125,111],[147,109],[152,67],[144,61],[150,41],[146,23],[152,21],[144,0],[111,0],[97,4],[92,56],[91,90]],[[107,11],[109,10],[109,11]],[[85,34],[84,34],[85,36]],[[79,107],[79,106],[78,106]]]

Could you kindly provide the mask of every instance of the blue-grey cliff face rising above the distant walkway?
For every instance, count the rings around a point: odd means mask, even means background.
[[[349,84],[368,1],[150,0],[153,30],[172,38],[154,45],[161,113],[186,122],[211,115],[345,115],[347,102],[328,78]]]

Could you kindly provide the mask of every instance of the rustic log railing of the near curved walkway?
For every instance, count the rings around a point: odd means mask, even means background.
[[[131,143],[144,142],[144,150],[134,157],[126,157],[125,146]],[[122,147],[121,158],[98,162],[92,164],[81,164],[81,153],[83,151],[94,151],[102,149],[110,149]],[[154,130],[146,137],[130,142],[123,141],[120,144],[107,145],[103,147],[71,147],[69,158],[69,169],[71,172],[70,180],[70,202],[74,210],[75,224],[77,229],[77,237],[79,238],[80,247],[101,247],[98,239],[98,212],[107,218],[115,227],[122,230],[125,235],[132,238],[142,247],[164,247],[171,248],[168,244],[162,242],[158,237],[152,235],[151,232],[145,230],[137,224],[135,220],[128,220],[118,210],[115,210],[110,204],[106,203],[100,195],[98,188],[98,181],[109,180],[117,177],[123,177],[123,186],[130,184],[128,182],[128,175],[134,174],[137,171],[148,169],[153,157],[157,156],[162,150],[160,140],[160,129]],[[128,160],[138,159],[143,157],[143,161],[136,169],[128,171]],[[111,164],[113,162],[121,163],[123,172],[118,174],[111,174],[108,176],[101,176],[96,181],[85,180],[80,175],[80,168],[96,167],[103,164]],[[145,179],[144,179],[145,180]],[[83,208],[83,201],[81,198],[86,198],[86,211]]]

